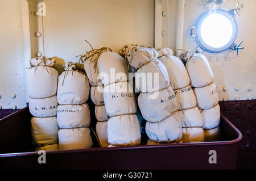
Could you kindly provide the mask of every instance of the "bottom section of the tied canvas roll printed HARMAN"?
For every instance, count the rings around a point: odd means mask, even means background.
[[[89,128],[60,129],[59,149],[86,149],[93,145]]]

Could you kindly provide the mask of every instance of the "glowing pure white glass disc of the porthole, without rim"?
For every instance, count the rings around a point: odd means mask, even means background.
[[[213,48],[224,47],[233,36],[232,22],[222,14],[211,14],[201,23],[201,38]]]

